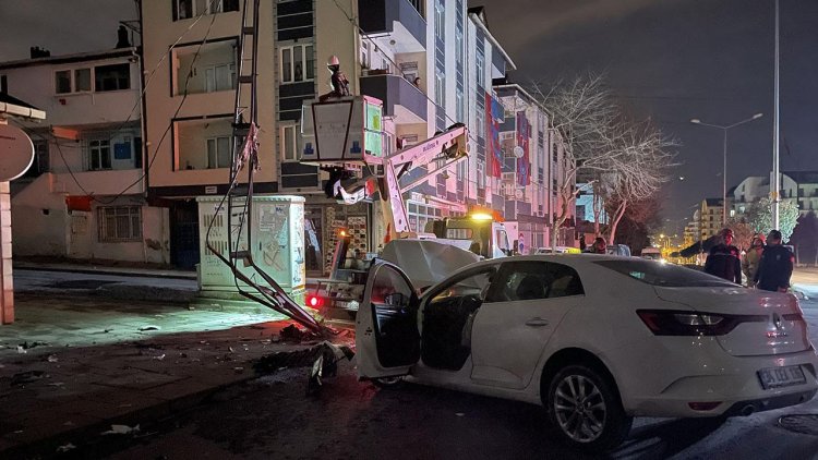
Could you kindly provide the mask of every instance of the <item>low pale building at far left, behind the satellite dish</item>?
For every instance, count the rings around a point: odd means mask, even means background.
[[[137,49],[33,49],[32,59],[0,63],[0,81],[47,113],[19,122],[36,155],[12,182],[14,253],[167,262],[167,216],[145,201]]]

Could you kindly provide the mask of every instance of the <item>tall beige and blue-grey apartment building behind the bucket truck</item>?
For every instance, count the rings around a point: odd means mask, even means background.
[[[146,75],[158,75],[146,85],[147,195],[168,211],[169,258],[176,265],[197,262],[195,196],[226,192],[241,8],[233,1],[142,2],[144,66]],[[488,152],[500,144],[500,131],[492,126],[505,116],[492,82],[515,66],[489,32],[482,9],[468,9],[466,0],[276,0],[261,8],[262,168],[254,191],[306,198],[308,276],[326,273],[339,229],[366,251],[376,251],[386,234],[377,206],[327,198],[327,173],[299,162],[301,107],[329,92],[330,56],[338,57],[351,94],[384,102],[385,153],[457,122],[470,129],[469,158],[426,178],[405,197],[413,230],[478,206],[506,219],[518,211],[545,218],[544,189],[534,203],[536,193],[526,187],[528,201],[519,201],[519,209],[509,207],[501,193],[502,173],[489,173]],[[533,114],[531,120],[537,130],[548,125]],[[539,142],[537,130],[532,145]],[[401,181],[425,174],[424,166],[416,166]],[[540,238],[539,227],[533,234]]]

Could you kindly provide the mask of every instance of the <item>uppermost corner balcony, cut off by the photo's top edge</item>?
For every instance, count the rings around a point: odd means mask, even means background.
[[[361,29],[395,41],[395,51],[425,50],[426,21],[409,0],[359,0]]]

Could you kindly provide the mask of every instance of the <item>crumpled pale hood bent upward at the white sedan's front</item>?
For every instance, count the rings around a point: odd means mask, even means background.
[[[390,262],[409,277],[414,288],[443,281],[456,270],[480,261],[477,254],[435,240],[393,240],[381,258]]]

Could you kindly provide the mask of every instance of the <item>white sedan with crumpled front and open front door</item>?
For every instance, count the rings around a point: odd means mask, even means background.
[[[634,416],[748,415],[818,390],[795,296],[633,257],[485,261],[422,295],[378,261],[356,323],[360,378],[542,404],[587,450],[618,446]]]

